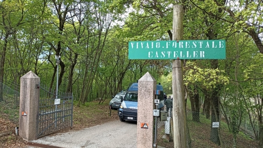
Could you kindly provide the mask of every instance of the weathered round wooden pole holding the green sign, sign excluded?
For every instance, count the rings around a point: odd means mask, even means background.
[[[173,6],[173,40],[183,39],[183,6]],[[174,148],[186,148],[186,121],[184,109],[183,61],[172,61],[173,142]]]

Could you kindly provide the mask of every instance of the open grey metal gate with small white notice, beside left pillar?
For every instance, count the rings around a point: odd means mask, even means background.
[[[57,131],[72,128],[73,96],[72,93],[58,93],[47,91],[40,85],[40,96],[37,117],[37,138]]]

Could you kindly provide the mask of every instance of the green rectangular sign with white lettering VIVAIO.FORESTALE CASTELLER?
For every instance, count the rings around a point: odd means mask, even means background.
[[[129,59],[226,59],[226,40],[130,41]]]

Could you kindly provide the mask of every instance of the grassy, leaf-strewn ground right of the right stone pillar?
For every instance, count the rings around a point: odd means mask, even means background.
[[[199,116],[200,122],[195,122],[192,120],[191,104],[188,100],[186,122],[189,128],[192,148],[234,148],[233,135],[229,132],[226,122],[223,120],[220,122],[220,132],[223,144],[221,144],[221,146],[217,146],[212,141],[210,141],[211,119],[206,119],[206,116],[202,115],[201,111]],[[157,145],[165,148],[174,148],[173,141],[169,142],[165,138],[164,128],[159,128],[158,132]],[[259,146],[257,141],[251,139],[243,132],[239,132],[236,148],[259,148]]]

